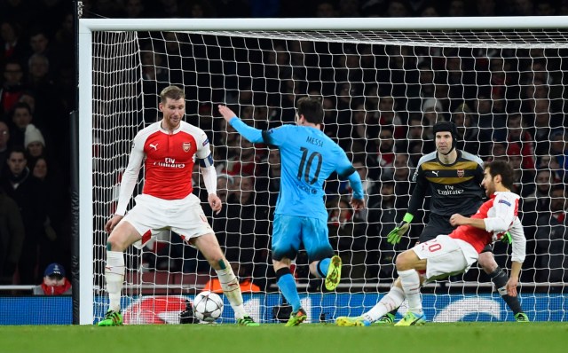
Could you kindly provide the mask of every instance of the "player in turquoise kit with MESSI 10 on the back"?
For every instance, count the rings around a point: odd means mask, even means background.
[[[357,171],[343,149],[324,134],[323,107],[315,98],[297,101],[296,125],[262,131],[249,127],[226,106],[219,113],[243,137],[252,143],[264,143],[280,149],[280,194],[274,213],[272,264],[280,291],[292,306],[286,326],[297,326],[306,318],[290,272],[290,261],[302,244],[308,253],[310,271],[326,278],[327,290],[334,290],[341,278],[341,258],[327,238],[327,209],[323,183],[333,172],[347,178],[353,195],[354,209],[365,207],[363,187]]]

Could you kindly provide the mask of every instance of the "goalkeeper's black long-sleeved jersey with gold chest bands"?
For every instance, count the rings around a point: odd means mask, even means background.
[[[485,198],[481,187],[483,161],[471,153],[457,150],[453,164],[442,164],[438,152],[424,155],[414,172],[414,192],[408,213],[415,215],[422,207],[424,197],[430,194],[430,212],[439,216],[454,213],[473,215]]]

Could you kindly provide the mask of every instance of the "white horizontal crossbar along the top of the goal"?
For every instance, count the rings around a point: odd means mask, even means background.
[[[340,18],[340,19],[83,19],[80,33],[91,31],[316,31],[453,30],[565,28],[568,16]]]

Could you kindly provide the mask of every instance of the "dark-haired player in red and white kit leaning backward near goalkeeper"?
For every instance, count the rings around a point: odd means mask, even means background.
[[[422,283],[468,271],[477,262],[483,248],[501,239],[507,231],[513,239],[512,266],[507,285],[499,290],[517,296],[526,239],[517,216],[519,196],[510,192],[513,169],[505,161],[493,161],[485,167],[481,184],[489,200],[475,215],[454,214],[450,223],[458,226],[455,231],[449,235],[438,235],[398,255],[397,271],[408,300],[408,311],[396,326],[422,325],[425,322],[420,296]]]

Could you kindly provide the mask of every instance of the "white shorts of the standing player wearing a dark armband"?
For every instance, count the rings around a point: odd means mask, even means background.
[[[161,231],[175,231],[186,241],[213,233],[201,208],[201,200],[190,193],[182,200],[163,200],[140,194],[136,205],[122,218],[140,233],[142,239],[134,243],[142,248]]]

